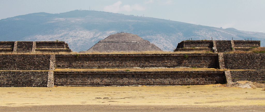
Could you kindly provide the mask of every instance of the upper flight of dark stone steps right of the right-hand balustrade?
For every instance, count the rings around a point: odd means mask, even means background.
[[[265,69],[265,53],[224,53],[223,55],[226,69]]]

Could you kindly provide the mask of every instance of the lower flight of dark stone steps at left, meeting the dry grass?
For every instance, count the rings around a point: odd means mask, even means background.
[[[47,79],[47,71],[0,71],[0,87],[47,87]]]

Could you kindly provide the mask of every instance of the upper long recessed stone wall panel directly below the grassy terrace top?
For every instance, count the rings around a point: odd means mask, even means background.
[[[217,68],[218,54],[56,54],[56,64],[71,67],[205,67]]]

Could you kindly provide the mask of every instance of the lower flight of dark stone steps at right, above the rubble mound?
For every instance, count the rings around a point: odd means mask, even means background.
[[[241,70],[230,71],[232,82],[237,81],[251,81],[251,82],[264,82],[265,70]]]

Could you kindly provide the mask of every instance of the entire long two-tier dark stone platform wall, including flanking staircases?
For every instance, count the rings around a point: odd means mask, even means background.
[[[187,54],[1,54],[0,86],[216,84],[264,81],[264,53]],[[246,60],[244,60],[246,59]],[[206,67],[227,71],[60,72],[61,67]],[[230,71],[229,71],[230,69]],[[233,69],[242,69],[233,71]],[[38,71],[34,71],[38,70]],[[77,70],[78,71],[78,70]],[[4,83],[4,81],[6,82]],[[30,81],[31,80],[31,81]],[[55,83],[54,83],[55,82]]]

